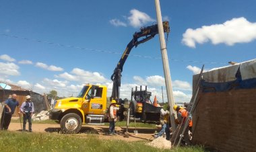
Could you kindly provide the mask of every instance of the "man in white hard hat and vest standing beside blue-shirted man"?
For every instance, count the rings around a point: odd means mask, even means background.
[[[28,131],[32,132],[32,114],[34,113],[34,104],[31,101],[31,97],[26,96],[26,102],[20,106],[20,112],[23,114],[23,130],[26,131],[26,123],[28,120]]]

